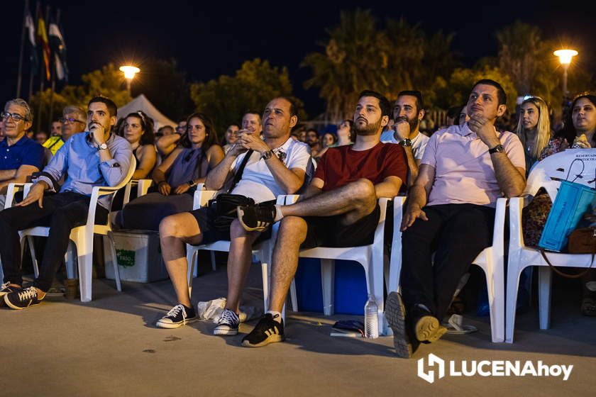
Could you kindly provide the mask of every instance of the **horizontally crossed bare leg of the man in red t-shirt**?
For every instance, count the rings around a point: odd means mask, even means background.
[[[282,206],[284,216],[334,216],[345,214],[346,225],[373,212],[377,203],[375,185],[368,179],[325,191],[304,201]]]

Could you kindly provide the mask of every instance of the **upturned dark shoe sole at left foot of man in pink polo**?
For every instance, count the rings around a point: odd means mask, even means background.
[[[402,296],[397,292],[392,292],[385,301],[385,318],[393,331],[393,345],[397,357],[408,359],[418,349],[420,342],[407,326],[406,308],[402,301]]]

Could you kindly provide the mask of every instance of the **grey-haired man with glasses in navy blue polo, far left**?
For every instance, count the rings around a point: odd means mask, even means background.
[[[26,101],[6,102],[2,112],[5,138],[0,141],[0,210],[4,208],[4,194],[9,184],[26,181],[43,166],[43,147],[25,135],[32,120]]]

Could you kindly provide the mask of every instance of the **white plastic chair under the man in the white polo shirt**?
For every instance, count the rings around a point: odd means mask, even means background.
[[[197,186],[197,191],[194,192],[194,203],[193,209],[198,209],[207,205],[208,201],[211,200],[217,193],[214,190],[202,190],[203,184],[199,184]],[[279,196],[277,198],[277,203],[284,203],[285,196]],[[269,240],[265,240],[260,242],[257,246],[253,247],[253,255],[255,255],[258,260],[261,262],[261,267],[263,269],[263,279],[268,280],[268,269],[271,263],[271,251],[272,246],[270,245],[275,244],[275,235],[277,232],[277,225],[274,225],[272,229],[272,237]],[[209,250],[211,251],[211,264],[214,267],[214,251],[219,252],[230,252],[230,242],[226,240],[219,240],[216,242],[211,242],[210,244],[202,244],[202,245],[189,245],[187,244],[187,263],[188,263],[188,293],[190,295],[192,291],[192,277],[196,276],[196,268],[194,266],[195,262],[197,262],[197,252],[199,250]],[[215,270],[215,268],[214,268]],[[266,282],[263,282],[263,301],[265,305],[265,311],[267,310],[267,306],[269,303],[269,290],[265,288]],[[296,286],[292,282],[292,290],[294,291],[292,297],[292,308],[294,311],[297,311],[297,300],[296,296]]]

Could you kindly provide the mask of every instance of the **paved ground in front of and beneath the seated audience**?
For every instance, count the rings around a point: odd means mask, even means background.
[[[225,284],[225,267],[201,276],[193,300],[221,296]],[[595,395],[596,318],[582,317],[578,301],[557,293],[551,330],[540,331],[530,311],[519,316],[513,345],[495,345],[487,319],[469,317],[479,332],[448,335],[404,360],[394,357],[391,337],[330,337],[331,324],[345,315],[289,313],[287,342],[260,349],[239,347],[241,335],[214,337],[206,323],[156,329],[173,301],[169,281],[124,286],[118,293],[110,281],[94,280],[91,303],[53,298],[26,311],[0,310],[0,396]],[[261,296],[253,267],[245,300],[260,305]],[[253,325],[241,325],[241,332]],[[429,384],[416,374],[417,360],[431,352],[456,362],[529,359],[574,367],[568,381],[476,375]]]

